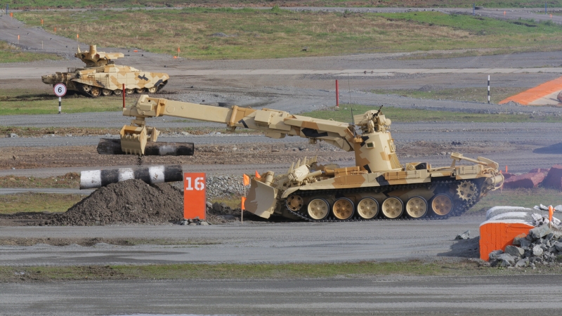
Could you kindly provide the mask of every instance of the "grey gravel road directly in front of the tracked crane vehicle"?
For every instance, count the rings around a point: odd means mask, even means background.
[[[212,242],[197,246],[0,246],[0,265],[125,263],[326,263],[459,258],[478,245],[455,241],[483,216],[365,223],[244,223],[211,226],[3,227],[0,238],[136,238]]]

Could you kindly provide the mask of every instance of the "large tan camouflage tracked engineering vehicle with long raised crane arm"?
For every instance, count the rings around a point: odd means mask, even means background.
[[[450,166],[400,164],[391,120],[379,110],[355,115],[353,124],[277,110],[212,107],[141,96],[124,108],[134,117],[121,131],[123,152],[143,154],[158,131],[145,118],[169,115],[263,131],[270,138],[300,136],[355,152],[355,166],[322,165],[317,157],[293,163],[285,174],[268,171],[251,178],[246,209],[306,220],[421,219],[458,216],[504,181],[498,164],[452,153]],[[457,164],[463,161],[469,164]]]

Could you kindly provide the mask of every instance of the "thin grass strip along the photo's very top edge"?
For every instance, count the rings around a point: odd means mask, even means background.
[[[391,1],[391,0],[18,0],[8,1],[11,8],[129,8],[145,6],[391,6],[391,7],[418,7],[418,8],[471,8],[485,6],[486,8],[544,8],[544,1],[536,0],[492,0],[492,1],[468,1],[468,0],[419,0],[419,1]],[[561,7],[562,1],[549,1],[550,7]]]

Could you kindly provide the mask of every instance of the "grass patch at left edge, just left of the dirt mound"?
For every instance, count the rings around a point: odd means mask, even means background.
[[[36,192],[0,195],[0,214],[43,211],[65,212],[81,199],[84,199],[84,195],[57,195]]]

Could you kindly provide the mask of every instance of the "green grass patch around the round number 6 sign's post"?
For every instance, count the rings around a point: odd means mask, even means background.
[[[46,85],[45,85],[46,86]],[[129,97],[126,105],[136,103],[138,97]],[[64,96],[63,112],[107,112],[121,111],[122,97],[86,98],[84,96]],[[1,89],[0,115],[14,114],[57,114],[58,98],[52,88],[41,89]]]

